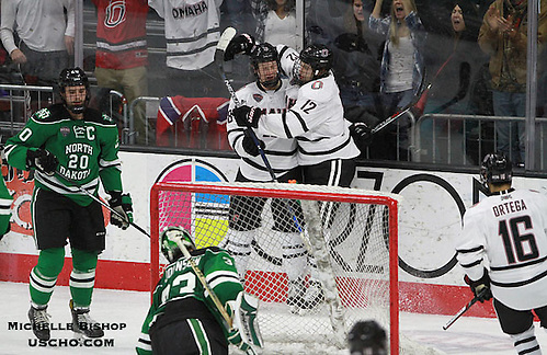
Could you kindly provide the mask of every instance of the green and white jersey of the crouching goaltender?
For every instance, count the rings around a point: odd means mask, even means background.
[[[225,307],[227,301],[235,300],[238,294],[243,290],[233,259],[225,250],[209,247],[192,251],[191,254],[207,284]],[[195,305],[196,300],[205,304],[208,314],[201,314],[201,310],[197,308],[184,307],[185,305]],[[152,354],[149,330],[156,322],[166,323],[183,319],[210,318],[210,314],[223,324],[223,316],[204,290],[190,263],[185,257],[180,257],[166,267],[163,276],[153,290],[152,305],[143,323],[137,353],[140,355]]]

